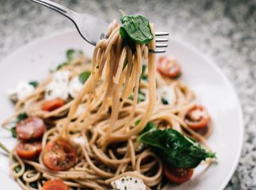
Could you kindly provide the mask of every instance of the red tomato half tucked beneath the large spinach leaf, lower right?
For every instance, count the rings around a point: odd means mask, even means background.
[[[167,179],[176,184],[181,184],[189,180],[193,175],[193,168],[171,168],[170,166],[164,165],[164,174]]]

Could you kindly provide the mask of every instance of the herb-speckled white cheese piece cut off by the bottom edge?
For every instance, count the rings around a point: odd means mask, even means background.
[[[114,190],[146,190],[143,180],[129,175],[111,182],[111,186]]]

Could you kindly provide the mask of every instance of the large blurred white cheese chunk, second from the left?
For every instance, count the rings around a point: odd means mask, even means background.
[[[52,76],[52,81],[45,88],[45,100],[68,98],[69,71],[57,71]]]

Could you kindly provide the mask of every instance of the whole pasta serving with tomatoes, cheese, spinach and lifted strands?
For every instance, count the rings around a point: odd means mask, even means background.
[[[167,189],[215,160],[210,115],[178,60],[150,53],[153,24],[123,15],[107,36],[92,59],[68,50],[43,81],[10,92],[3,127],[17,138],[10,174],[22,189]]]

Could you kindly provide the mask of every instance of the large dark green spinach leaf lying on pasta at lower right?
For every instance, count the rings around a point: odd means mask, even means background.
[[[215,158],[214,153],[173,129],[149,130],[140,135],[138,141],[152,146],[153,151],[174,168],[196,168],[206,158]]]

